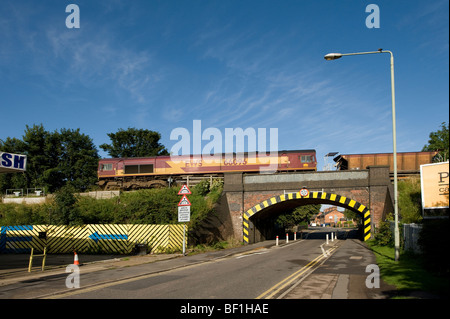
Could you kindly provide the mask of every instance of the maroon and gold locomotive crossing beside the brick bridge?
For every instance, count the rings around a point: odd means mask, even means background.
[[[269,156],[272,158],[269,159]],[[275,165],[270,165],[275,163]],[[279,151],[257,155],[220,154],[212,161],[209,156],[170,156],[145,158],[106,158],[98,165],[98,185],[104,190],[131,190],[166,187],[169,181],[186,180],[189,176],[223,176],[226,172],[259,173],[316,171],[315,150]]]

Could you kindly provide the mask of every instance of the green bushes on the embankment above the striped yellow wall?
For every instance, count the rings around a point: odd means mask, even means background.
[[[205,196],[203,186],[193,187],[189,195],[189,229],[214,213],[214,204],[222,193],[220,182],[213,183]],[[145,189],[125,192],[120,197],[94,199],[76,196],[71,185],[62,187],[52,201],[41,205],[0,204],[0,225],[29,224],[175,224],[178,222],[178,188]]]

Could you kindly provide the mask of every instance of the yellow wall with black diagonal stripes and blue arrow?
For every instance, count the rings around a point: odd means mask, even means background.
[[[182,249],[183,225],[87,224],[82,226],[21,225],[0,227],[0,253],[130,254],[136,244],[153,253]]]

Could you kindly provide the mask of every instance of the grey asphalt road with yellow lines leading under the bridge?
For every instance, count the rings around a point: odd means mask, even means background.
[[[225,258],[201,256],[83,273],[80,288],[67,288],[68,274],[0,287],[1,298],[64,299],[379,299],[386,289],[366,287],[373,253],[348,232],[325,241],[330,229],[308,239],[261,246]],[[345,240],[344,240],[345,238]],[[280,241],[281,243],[283,241]],[[183,263],[182,266],[180,266]],[[177,266],[178,265],[178,266]],[[156,269],[156,270],[155,270]],[[171,269],[171,270],[170,270]],[[383,287],[381,287],[383,288]]]

